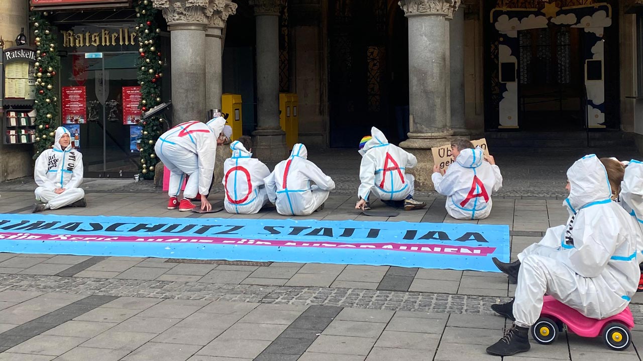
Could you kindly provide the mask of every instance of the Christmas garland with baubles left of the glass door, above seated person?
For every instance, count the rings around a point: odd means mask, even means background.
[[[60,57],[55,47],[57,45],[56,31],[47,20],[48,13],[32,11],[34,42],[36,46],[36,99],[33,109],[36,110],[36,159],[41,152],[51,148],[55,136],[55,125],[58,124],[58,98],[54,86],[56,72],[60,69]]]

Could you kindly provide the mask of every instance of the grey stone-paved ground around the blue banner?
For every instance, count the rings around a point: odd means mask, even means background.
[[[566,167],[591,153],[578,152],[498,154],[505,193],[482,221],[449,218],[444,198],[431,193],[417,196],[428,203],[421,211],[363,216],[353,209],[359,157],[352,150],[322,152],[312,157],[323,158],[316,161],[340,189],[324,211],[302,218],[506,224],[515,257],[547,227],[565,222],[565,194],[557,189]],[[286,218],[275,211],[244,217],[168,211],[151,182],[85,185],[87,208],[46,214]],[[29,213],[33,188],[30,180],[0,184],[0,213]],[[514,289],[493,272],[0,253],[0,361],[496,360],[484,349],[511,322],[490,306],[509,300]],[[643,295],[630,308],[643,324]],[[640,360],[638,330],[624,352],[563,331],[550,346],[532,341],[529,353],[504,359]]]

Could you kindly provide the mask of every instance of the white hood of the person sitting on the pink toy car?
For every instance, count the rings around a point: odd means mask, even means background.
[[[594,202],[610,200],[611,186],[607,171],[595,154],[585,155],[567,170],[571,191],[565,204],[576,213]]]

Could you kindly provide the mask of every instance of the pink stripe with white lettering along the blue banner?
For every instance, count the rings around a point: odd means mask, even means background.
[[[249,240],[246,238],[198,237],[177,238],[156,236],[142,238],[134,236],[84,236],[71,234],[44,233],[0,233],[0,240],[26,241],[68,241],[68,242],[141,242],[141,243],[203,243],[219,245],[260,245],[273,247],[314,247],[337,249],[375,249],[383,251],[402,251],[434,254],[457,254],[460,256],[487,256],[496,247],[467,247],[457,245],[436,245],[426,243],[343,243],[343,242],[302,242],[285,240]]]

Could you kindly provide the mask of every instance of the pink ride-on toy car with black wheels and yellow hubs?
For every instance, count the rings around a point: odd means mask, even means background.
[[[545,296],[540,318],[531,333],[539,344],[551,344],[556,340],[559,331],[567,326],[568,330],[582,337],[597,337],[601,335],[603,342],[617,351],[622,351],[631,344],[629,330],[634,328],[634,318],[629,307],[618,315],[603,320],[590,319],[583,316],[574,308],[556,301],[552,296]]]

